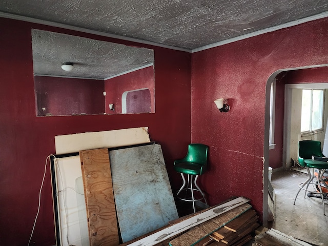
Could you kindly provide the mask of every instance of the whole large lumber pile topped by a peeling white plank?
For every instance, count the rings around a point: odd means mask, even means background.
[[[217,206],[171,221],[167,227],[141,236],[127,243],[130,246],[206,246],[243,245],[258,227],[256,212],[244,197],[231,198]],[[226,242],[211,236],[227,226],[231,235],[225,234]]]

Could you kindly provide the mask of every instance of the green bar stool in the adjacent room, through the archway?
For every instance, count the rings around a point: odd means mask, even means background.
[[[328,169],[328,162],[325,161],[325,156],[321,151],[321,142],[315,140],[301,140],[298,142],[298,161],[299,165],[306,168],[308,171],[308,178],[300,183],[299,190],[296,194],[294,205],[296,202],[296,198],[301,190],[308,193],[308,196],[321,197],[323,204],[323,214],[325,215],[325,206],[324,199],[327,197],[328,187],[323,179],[323,174],[326,169]],[[328,158],[327,158],[328,160]],[[310,169],[312,171],[310,171]],[[314,182],[315,170],[317,172],[317,178]],[[316,187],[316,191],[309,190],[309,185],[314,185]],[[306,186],[306,188],[305,188]],[[318,196],[316,196],[318,195]],[[305,198],[305,195],[304,195]]]

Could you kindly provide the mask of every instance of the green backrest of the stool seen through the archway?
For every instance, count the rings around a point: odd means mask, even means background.
[[[298,142],[298,161],[305,167],[304,159],[311,159],[312,156],[324,157],[321,151],[321,142],[315,140],[301,140]]]

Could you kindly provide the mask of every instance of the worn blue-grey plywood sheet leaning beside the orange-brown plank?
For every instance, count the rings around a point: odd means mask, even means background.
[[[178,218],[159,144],[111,150],[109,153],[123,242]]]

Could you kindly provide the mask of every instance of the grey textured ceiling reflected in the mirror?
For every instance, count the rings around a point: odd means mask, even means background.
[[[34,75],[107,79],[154,64],[154,51],[67,34],[32,30]],[[61,63],[72,62],[64,71]]]

